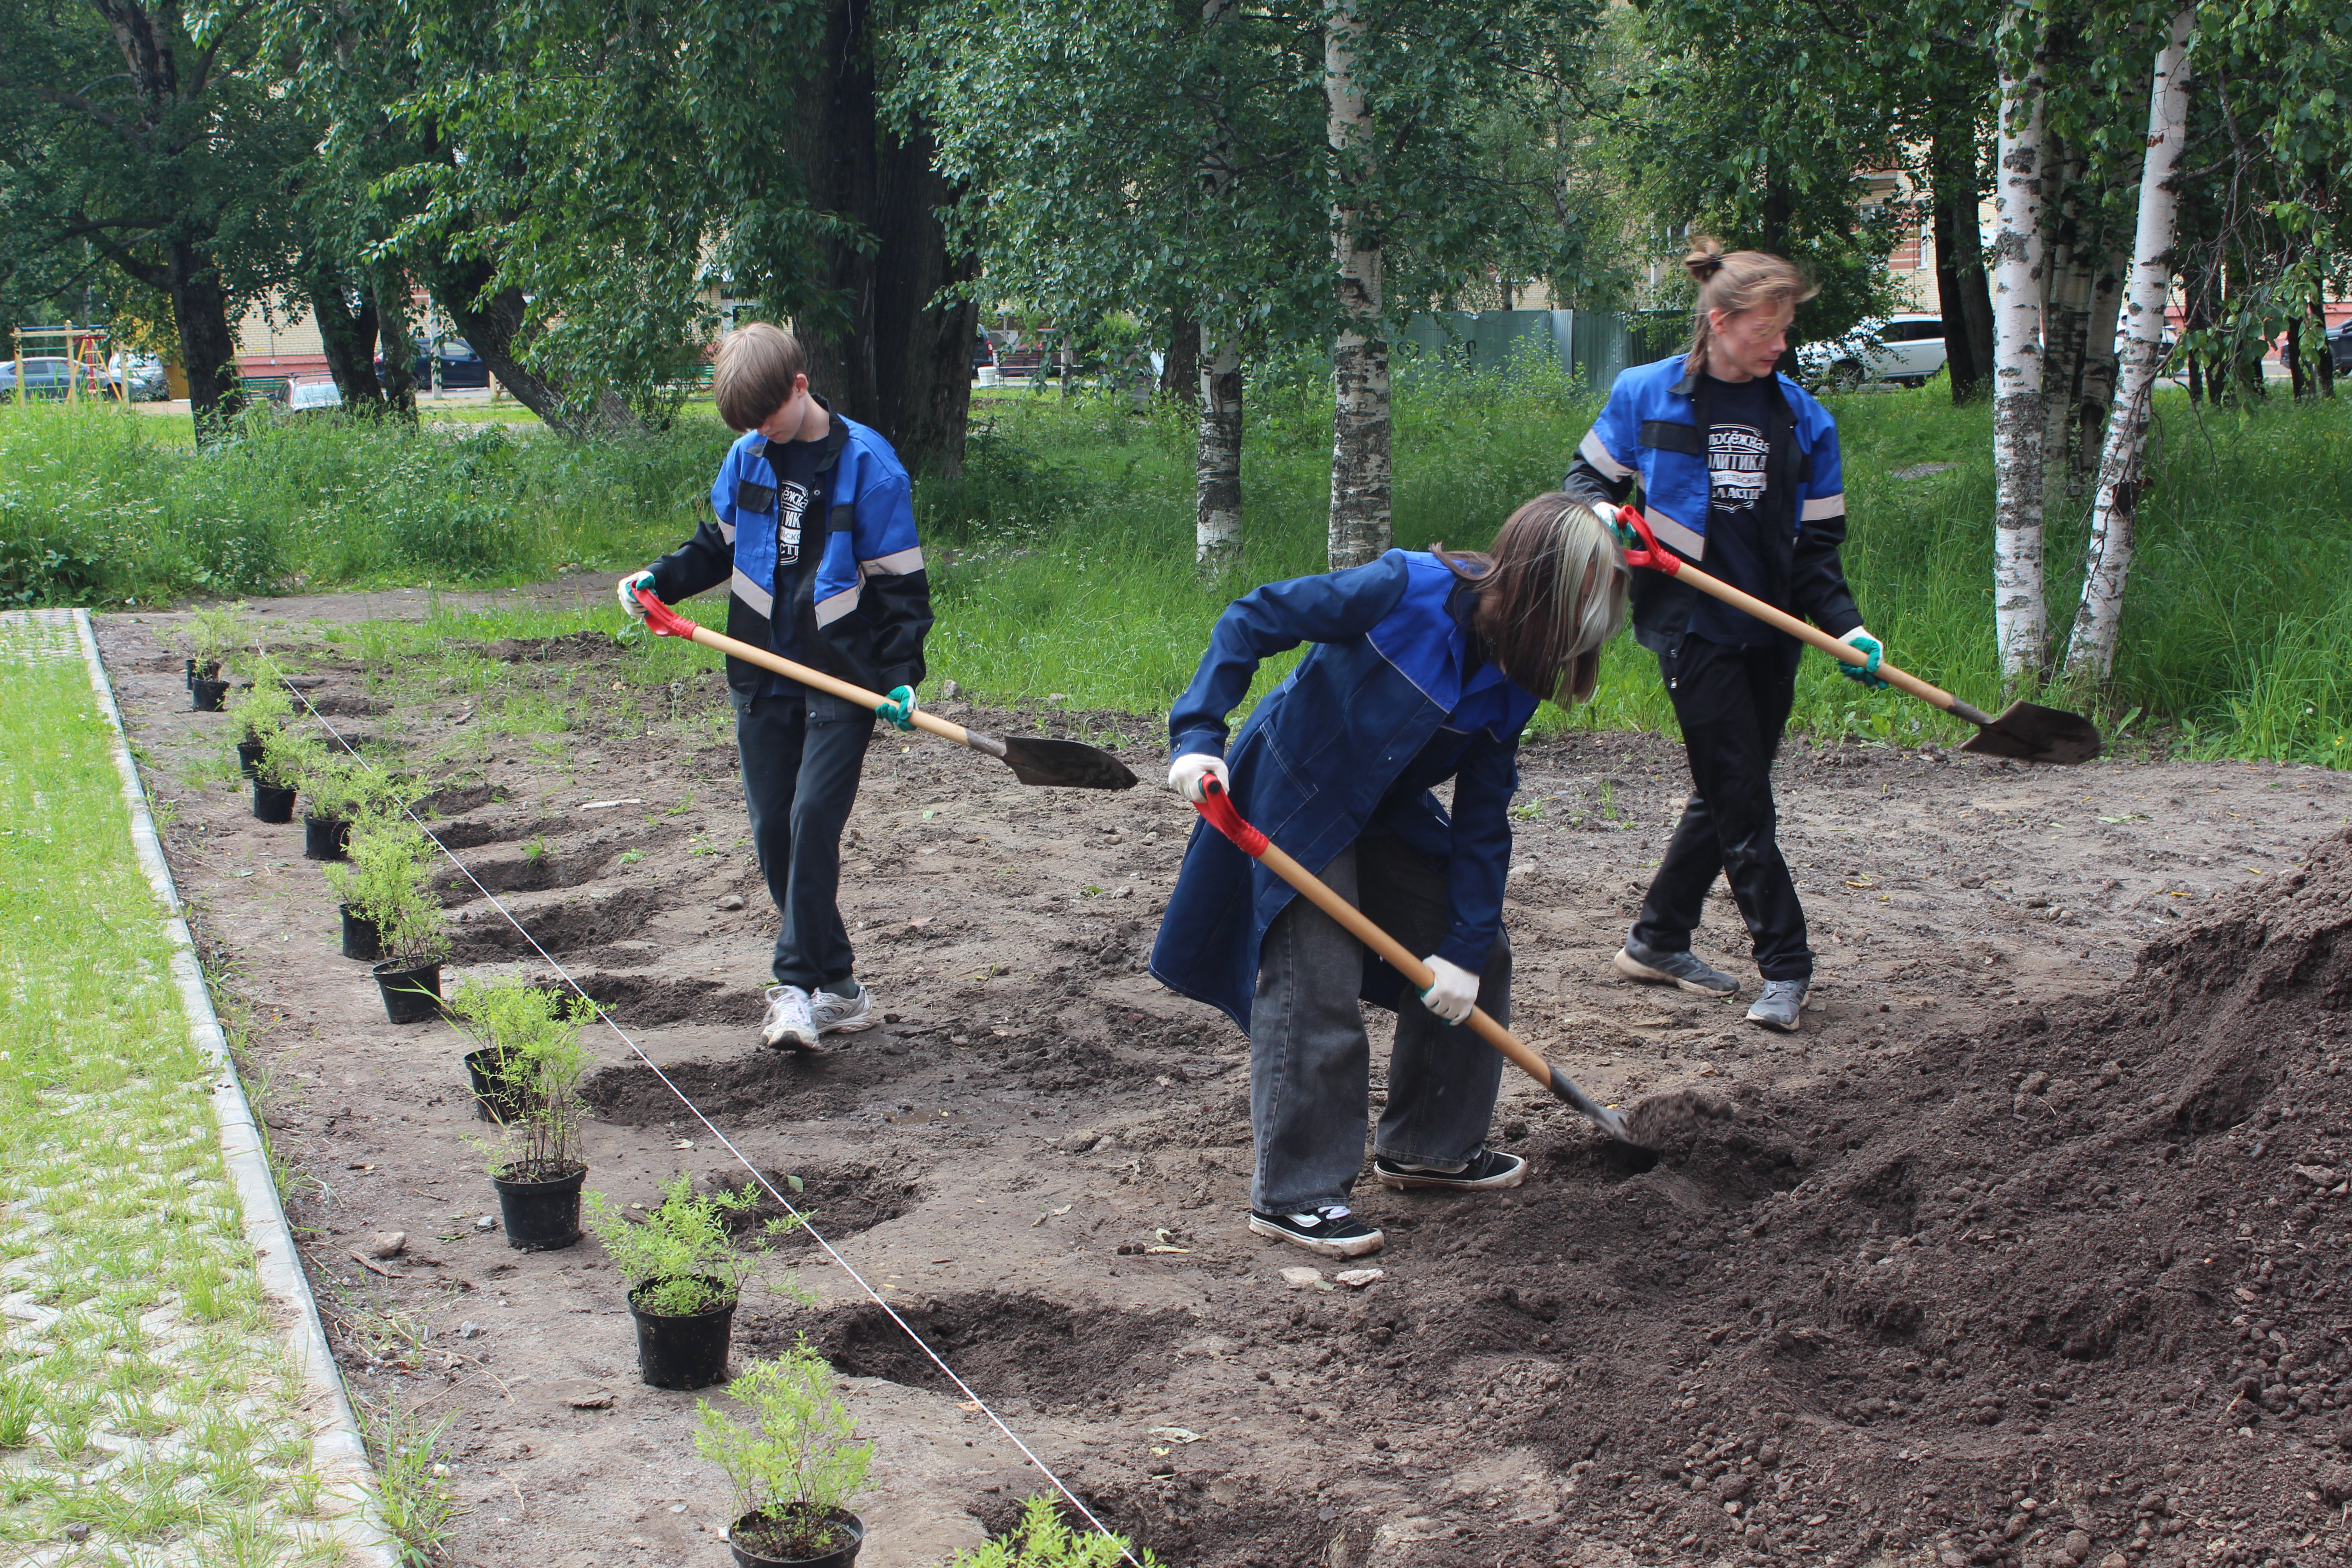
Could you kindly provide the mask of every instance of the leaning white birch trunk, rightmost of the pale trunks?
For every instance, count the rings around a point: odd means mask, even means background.
[[[2140,505],[2140,461],[2147,454],[2147,409],[2164,355],[2164,303],[2173,282],[2173,237],[2180,219],[2180,153],[2187,146],[2190,33],[2197,7],[2173,14],[2147,92],[2147,155],[2140,162],[2140,221],[2133,235],[2131,294],[2124,301],[2126,346],[2114,414],[2098,456],[2098,498],[2091,503],[2091,545],[2067,642],[2065,670],[2105,682],[2124,623],[2124,581],[2131,574]]]

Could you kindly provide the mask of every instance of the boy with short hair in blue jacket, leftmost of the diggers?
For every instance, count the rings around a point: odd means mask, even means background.
[[[809,390],[793,334],[760,322],[727,336],[713,397],[743,433],[710,484],[713,517],[621,578],[621,607],[642,618],[637,588],[677,604],[727,583],[729,637],[891,696],[868,712],[727,661],[750,842],[783,917],[760,1039],[811,1051],[875,1023],[835,905],[842,825],[875,715],[913,729],[931,585],[898,454]]]

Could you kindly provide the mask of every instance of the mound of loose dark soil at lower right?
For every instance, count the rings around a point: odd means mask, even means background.
[[[1743,1086],[1651,1168],[1555,1114],[1519,1201],[1416,1211],[1442,1281],[1291,1333],[1573,1465],[1559,1547],[2340,1561],[2305,1537],[2352,1439],[2347,1009],[2333,839],[2110,997]]]

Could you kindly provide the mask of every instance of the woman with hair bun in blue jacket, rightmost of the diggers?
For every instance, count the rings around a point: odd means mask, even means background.
[[[1795,611],[1867,654],[1839,670],[1870,686],[1879,639],[1853,607],[1837,421],[1773,371],[1788,324],[1816,289],[1780,256],[1698,240],[1691,348],[1616,378],[1562,489],[1613,515],[1639,482],[1658,543],[1764,604]],[[1764,990],[1748,1018],[1795,1032],[1813,980],[1804,905],[1776,842],[1771,764],[1797,696],[1788,632],[1686,583],[1639,571],[1635,639],[1658,656],[1691,759],[1691,799],[1616,971],[1653,985],[1733,997],[1740,983],[1691,952],[1717,872],[1731,882]]]

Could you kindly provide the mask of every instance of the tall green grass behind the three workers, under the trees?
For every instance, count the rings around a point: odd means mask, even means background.
[[[1397,381],[1395,538],[1482,545],[1519,501],[1559,482],[1597,400],[1541,369],[1414,369]],[[1832,409],[1846,574],[1870,628],[1903,668],[1997,705],[1990,409],[1955,409],[1940,386]],[[2096,708],[2126,741],[2161,731],[2199,755],[2345,764],[2347,421],[2343,400],[2218,411],[2161,393],[2117,679],[2051,701]],[[706,407],[663,435],[588,447],[463,418],[372,430],[254,421],[245,440],[195,454],[155,423],[66,409],[0,418],[0,592],[14,583],[120,604],[515,583],[569,562],[623,569],[694,529],[729,440]],[[1202,583],[1188,409],[1138,411],[1124,393],[976,397],[964,475],[917,482],[938,602],[934,689],[953,677],[997,703],[1061,693],[1082,708],[1162,710],[1235,592],[1322,569],[1329,447],[1329,388],[1312,360],[1251,386],[1247,559]],[[1936,463],[1950,468],[1919,473]],[[2063,628],[2086,501],[2058,512],[2049,559]],[[1595,703],[1538,719],[1564,724],[1672,724],[1630,637],[1609,651]],[[1797,724],[1898,743],[1966,733],[1919,703],[1860,693],[1825,658],[1806,658]]]

